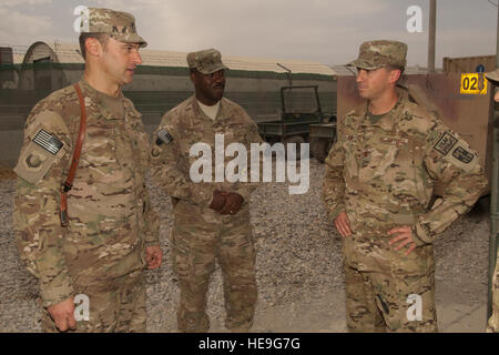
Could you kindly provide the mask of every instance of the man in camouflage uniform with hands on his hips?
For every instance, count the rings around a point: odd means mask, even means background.
[[[323,199],[343,236],[350,332],[436,332],[432,241],[487,180],[478,155],[425,108],[399,98],[407,45],[369,41],[356,67],[366,102],[338,123]],[[446,190],[434,205],[434,184]]]

